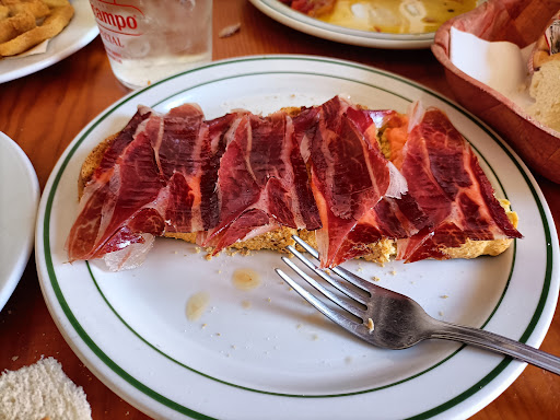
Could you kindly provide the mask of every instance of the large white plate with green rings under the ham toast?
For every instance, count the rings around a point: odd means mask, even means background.
[[[319,57],[247,57],[122,98],[73,140],[46,186],[36,234],[45,300],[77,354],[119,396],[166,419],[359,419],[372,410],[384,419],[466,418],[523,371],[524,363],[453,342],[370,347],[290,291],[272,270],[281,262],[271,252],[207,261],[191,244],[156,240],[135,270],[67,262],[80,166],[138,104],[165,112],[196,102],[213,118],[240,107],[267,114],[319,104],[336,94],[374,108],[404,112],[416,100],[443,108],[480,154],[499,196],[513,202],[525,235],[497,258],[348,267],[380,277],[435,317],[541,342],[559,289],[558,241],[538,186],[510,148],[454,103],[397,75]],[[259,288],[235,288],[233,271],[244,268],[259,273]],[[187,302],[201,292],[209,306],[189,320]]]

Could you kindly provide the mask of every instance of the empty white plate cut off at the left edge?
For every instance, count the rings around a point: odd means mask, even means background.
[[[0,311],[30,259],[38,202],[33,165],[18,143],[0,131]]]

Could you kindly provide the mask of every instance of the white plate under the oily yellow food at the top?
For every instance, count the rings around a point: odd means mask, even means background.
[[[291,28],[342,44],[387,49],[419,49],[432,45],[435,35],[433,32],[425,34],[389,34],[351,30],[310,18],[278,0],[249,1],[269,18]]]

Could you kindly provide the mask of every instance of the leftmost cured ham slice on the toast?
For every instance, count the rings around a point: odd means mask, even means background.
[[[106,153],[114,165],[103,160],[84,189],[83,207],[67,243],[70,260],[101,258],[130,244],[145,243],[142,234],[163,233],[163,218],[153,209],[163,183],[151,144],[162,124],[161,117],[150,115],[132,138],[132,128],[127,126],[124,136],[129,141],[117,144],[121,150],[118,158],[113,149]]]

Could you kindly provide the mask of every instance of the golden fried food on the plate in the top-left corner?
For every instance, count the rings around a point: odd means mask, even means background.
[[[58,35],[73,13],[68,0],[0,0],[0,58]]]

